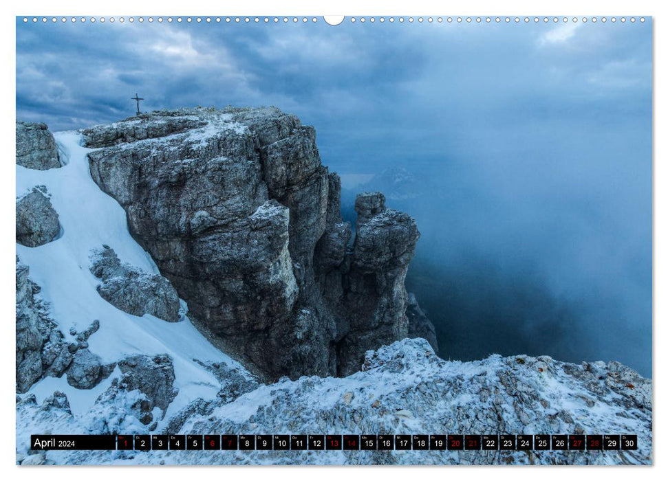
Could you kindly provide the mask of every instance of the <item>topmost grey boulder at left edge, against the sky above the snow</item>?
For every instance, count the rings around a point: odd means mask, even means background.
[[[46,124],[17,120],[17,164],[36,170],[58,168],[58,146]]]

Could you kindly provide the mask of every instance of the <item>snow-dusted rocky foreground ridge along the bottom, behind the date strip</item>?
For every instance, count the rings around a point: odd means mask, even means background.
[[[118,432],[101,423],[105,400],[73,416],[62,394],[17,399],[17,429]],[[123,411],[114,405],[114,416]],[[228,434],[638,434],[636,451],[26,451],[39,464],[608,465],[651,463],[651,381],[620,363],[492,356],[444,361],[424,339],[369,351],[345,378],[283,378],[235,399],[200,400],[165,433]],[[145,429],[145,428],[144,428]],[[136,431],[141,433],[143,431]]]

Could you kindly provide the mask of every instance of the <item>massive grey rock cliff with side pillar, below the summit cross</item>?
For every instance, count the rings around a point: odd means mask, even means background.
[[[181,109],[83,135],[93,179],[195,322],[264,377],[349,374],[407,335],[415,222],[365,196],[349,249],[341,182],[294,115]]]

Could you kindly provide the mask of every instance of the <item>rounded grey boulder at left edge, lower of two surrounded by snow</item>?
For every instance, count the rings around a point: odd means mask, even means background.
[[[61,230],[46,189],[34,188],[17,201],[17,243],[37,247],[50,243]]]

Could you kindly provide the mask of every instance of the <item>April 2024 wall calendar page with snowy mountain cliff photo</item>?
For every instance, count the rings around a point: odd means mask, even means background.
[[[652,23],[17,16],[17,465],[651,465]]]

